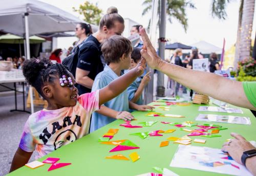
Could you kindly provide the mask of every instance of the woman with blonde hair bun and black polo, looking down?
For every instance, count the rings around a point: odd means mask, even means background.
[[[92,91],[96,75],[103,70],[100,44],[113,35],[121,35],[124,30],[124,19],[115,7],[110,7],[99,23],[99,30],[90,35],[79,49],[76,68],[78,94]]]

